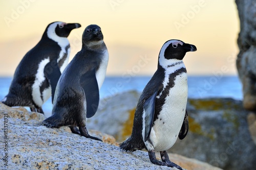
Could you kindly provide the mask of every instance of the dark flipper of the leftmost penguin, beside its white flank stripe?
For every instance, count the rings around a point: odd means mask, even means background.
[[[49,63],[47,63],[44,68],[44,73],[51,85],[52,103],[53,103],[55,89],[56,89],[59,77],[61,76],[61,72],[59,70],[57,61],[53,60],[53,61],[50,61]]]

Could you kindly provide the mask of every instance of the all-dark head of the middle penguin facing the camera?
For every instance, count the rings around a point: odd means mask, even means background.
[[[100,45],[103,43],[103,34],[97,25],[90,25],[83,31],[82,43],[86,46]]]

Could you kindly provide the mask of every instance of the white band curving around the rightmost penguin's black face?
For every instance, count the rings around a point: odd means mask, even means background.
[[[167,41],[167,42],[165,42],[164,44],[163,44],[163,46],[162,46],[162,48],[161,48],[161,50],[160,50],[160,54],[159,54],[159,64],[162,66],[162,67],[167,67],[168,65],[170,65],[170,64],[174,64],[174,63],[176,63],[177,61],[180,61],[180,60],[175,60],[175,59],[166,59],[165,57],[164,57],[164,52],[165,52],[165,50],[166,50],[166,48],[169,46],[169,44],[171,44],[172,43],[172,45],[173,46],[175,46],[176,45],[176,47],[178,46],[178,44],[180,44],[180,45],[183,45],[183,42],[181,42],[181,41],[178,41],[178,40],[170,40],[170,41]]]

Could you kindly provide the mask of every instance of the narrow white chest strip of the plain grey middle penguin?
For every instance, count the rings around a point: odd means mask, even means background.
[[[108,53],[108,50],[105,50],[105,52],[102,56],[102,60],[101,60],[99,69],[96,72],[96,79],[98,82],[99,90],[100,90],[100,88],[103,84],[103,81],[105,79],[106,67],[108,67],[108,62],[109,62],[109,53]]]

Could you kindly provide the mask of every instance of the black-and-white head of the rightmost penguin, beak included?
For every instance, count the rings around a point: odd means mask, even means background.
[[[192,44],[187,44],[181,40],[168,40],[166,41],[159,53],[159,60],[177,59],[182,60],[186,52],[195,52],[197,47]]]

